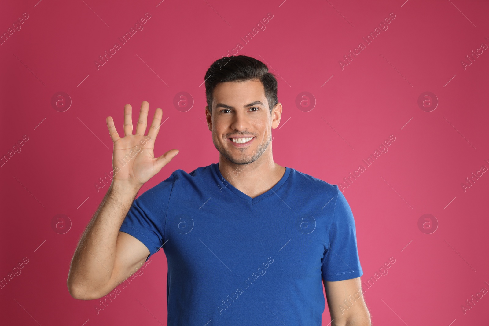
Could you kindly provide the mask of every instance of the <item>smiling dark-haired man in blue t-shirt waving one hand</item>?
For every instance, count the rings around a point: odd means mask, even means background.
[[[323,283],[331,325],[371,325],[348,202],[337,185],[273,161],[275,77],[240,55],[204,80],[219,163],[177,170],[135,200],[178,150],[154,157],[162,110],[145,136],[146,101],[135,134],[130,105],[123,138],[107,118],[115,175],[71,261],[70,294],[101,298],[163,248],[168,325],[321,325]]]

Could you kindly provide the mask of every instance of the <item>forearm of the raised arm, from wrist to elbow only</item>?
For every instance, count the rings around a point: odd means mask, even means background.
[[[68,288],[86,296],[111,279],[116,242],[139,187],[113,182],[83,233],[71,261]]]

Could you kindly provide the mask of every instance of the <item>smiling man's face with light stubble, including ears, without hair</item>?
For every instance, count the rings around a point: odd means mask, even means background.
[[[234,164],[256,161],[270,144],[271,130],[280,122],[282,105],[277,104],[270,114],[259,80],[220,83],[213,97],[212,115],[208,107],[205,109],[216,149]]]

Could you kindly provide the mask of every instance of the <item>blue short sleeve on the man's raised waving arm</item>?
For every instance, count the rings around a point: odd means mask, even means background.
[[[119,229],[148,248],[150,254],[146,260],[163,246],[166,214],[174,183],[172,173],[166,180],[134,199]]]

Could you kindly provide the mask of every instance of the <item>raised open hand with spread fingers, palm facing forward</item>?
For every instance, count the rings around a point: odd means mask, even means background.
[[[148,125],[149,103],[143,101],[137,121],[136,133],[133,135],[132,107],[124,106],[124,137],[120,138],[115,130],[112,117],[107,117],[107,127],[114,142],[112,167],[114,176],[112,183],[122,183],[127,186],[141,187],[170,162],[178,150],[170,150],[155,158],[154,148],[156,135],[161,124],[163,110],[156,109],[148,135],[144,135]]]

